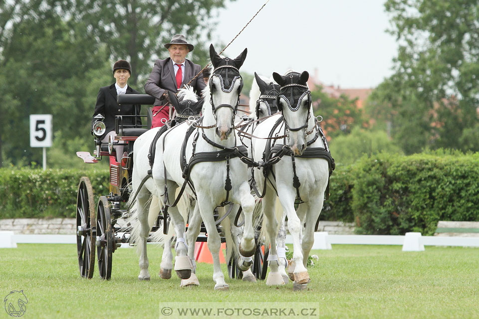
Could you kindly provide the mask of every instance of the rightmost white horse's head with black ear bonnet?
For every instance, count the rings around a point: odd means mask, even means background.
[[[292,71],[285,76],[273,73],[273,79],[280,86],[276,103],[282,112],[289,148],[294,155],[301,155],[306,149],[306,129],[311,116],[308,78],[309,73],[306,71],[301,74]]]

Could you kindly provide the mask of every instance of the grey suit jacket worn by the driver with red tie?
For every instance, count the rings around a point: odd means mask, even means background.
[[[182,86],[190,82],[190,80],[200,72],[201,66],[185,59],[185,76],[183,77]],[[191,81],[190,86],[195,89],[197,95],[201,96],[206,84],[203,81],[203,74]],[[171,58],[164,60],[156,60],[155,66],[150,73],[150,77],[145,84],[146,94],[150,94],[156,98],[155,106],[165,105],[167,100],[162,96],[166,91],[178,92],[176,85],[175,70]]]

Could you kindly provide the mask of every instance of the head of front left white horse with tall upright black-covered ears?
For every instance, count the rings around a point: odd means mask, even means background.
[[[220,140],[227,140],[233,132],[235,115],[240,103],[243,81],[240,67],[246,58],[247,49],[236,58],[222,58],[210,45],[213,72],[209,81],[210,103],[216,120],[216,134]]]

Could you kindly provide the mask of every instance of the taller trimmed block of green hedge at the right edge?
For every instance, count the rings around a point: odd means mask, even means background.
[[[392,156],[353,167],[356,232],[434,234],[439,220],[479,220],[479,155]]]

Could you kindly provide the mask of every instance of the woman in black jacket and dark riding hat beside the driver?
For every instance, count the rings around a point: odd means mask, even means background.
[[[131,75],[131,65],[128,61],[118,60],[113,64],[113,77],[116,79],[116,83],[110,86],[104,86],[100,88],[98,96],[96,98],[95,111],[91,121],[91,127],[96,119],[97,114],[101,114],[104,117],[103,123],[105,123],[105,133],[101,137],[102,142],[108,142],[110,135],[113,137],[115,133],[115,116],[117,115],[140,115],[140,105],[122,104],[118,105],[116,98],[120,94],[140,94],[140,92],[133,90],[127,85],[128,79]],[[122,119],[122,125],[141,125],[141,117],[124,117]],[[117,161],[120,161],[123,156],[123,146],[115,146]]]

